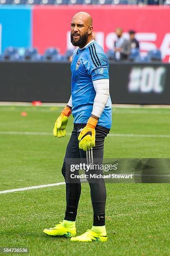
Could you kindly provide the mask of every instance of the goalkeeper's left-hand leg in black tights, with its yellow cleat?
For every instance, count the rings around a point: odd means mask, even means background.
[[[68,183],[67,182],[67,169],[66,166],[69,167],[70,159],[80,159],[80,151],[77,139],[77,130],[74,128],[72,131],[72,135],[70,137],[70,141],[68,142],[64,163],[62,165],[62,175],[66,181],[66,212],[65,218],[62,223],[57,224],[54,228],[46,228],[43,232],[50,236],[64,236],[64,237],[72,237],[76,236],[75,229],[75,218],[77,215],[77,207],[80,199],[81,193],[81,183],[80,179],[77,180],[76,183]],[[70,174],[70,172],[69,172]]]

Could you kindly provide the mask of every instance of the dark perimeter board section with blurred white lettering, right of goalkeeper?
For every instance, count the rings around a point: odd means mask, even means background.
[[[110,95],[117,104],[170,104],[169,64],[110,64]]]

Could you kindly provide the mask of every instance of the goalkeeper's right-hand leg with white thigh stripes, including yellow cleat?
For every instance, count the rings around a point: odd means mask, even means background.
[[[81,159],[87,159],[87,164],[102,164],[104,153],[104,141],[107,133],[102,131],[101,128],[95,129],[95,147],[87,152],[80,150]],[[79,134],[78,134],[79,135]],[[91,173],[102,174],[102,171],[92,170]],[[91,233],[86,232],[82,236],[72,238],[71,241],[92,241],[95,237],[96,241],[107,241],[106,229],[105,229],[105,202],[106,202],[106,188],[104,179],[88,179],[90,184],[90,195],[93,207],[93,226]],[[85,235],[85,236],[84,236]]]

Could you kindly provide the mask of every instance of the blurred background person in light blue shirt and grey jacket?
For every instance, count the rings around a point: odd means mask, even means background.
[[[128,59],[130,54],[130,41],[122,36],[122,28],[116,28],[115,33],[117,40],[115,41],[115,59],[117,61]]]

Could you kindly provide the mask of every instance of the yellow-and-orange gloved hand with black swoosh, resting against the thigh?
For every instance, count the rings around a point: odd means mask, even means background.
[[[90,117],[87,125],[82,129],[78,136],[79,148],[87,151],[87,149],[95,147],[95,127],[97,119]]]

